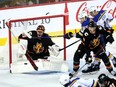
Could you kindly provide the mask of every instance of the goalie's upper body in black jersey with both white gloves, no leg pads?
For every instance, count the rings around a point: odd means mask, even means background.
[[[55,56],[59,54],[59,46],[55,45],[51,37],[45,33],[43,25],[39,25],[36,30],[22,33],[18,39],[21,44],[18,51],[19,57],[27,52],[33,60],[47,59],[50,56],[48,49]]]

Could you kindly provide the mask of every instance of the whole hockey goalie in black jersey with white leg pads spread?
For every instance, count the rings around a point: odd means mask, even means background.
[[[23,32],[19,35],[18,41],[18,58],[25,58],[27,62],[20,62],[22,64],[17,67],[17,70],[13,69],[14,67],[12,66],[12,72],[28,72],[34,71],[34,69],[68,71],[66,61],[58,57],[59,46],[45,33],[45,27],[43,25],[39,25],[36,30],[29,31],[28,33]]]

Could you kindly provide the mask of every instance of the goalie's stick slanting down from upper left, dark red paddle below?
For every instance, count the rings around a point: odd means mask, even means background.
[[[9,29],[9,31],[12,33],[15,40],[18,42],[18,39],[16,38],[15,34],[11,31],[10,26],[8,25],[8,22],[6,22],[6,25],[7,25],[8,29]],[[38,67],[36,66],[35,62],[33,61],[33,59],[29,56],[29,54],[27,52],[26,52],[25,56],[28,59],[28,61],[30,62],[30,64],[32,65],[32,67],[34,68],[34,70],[37,71]]]

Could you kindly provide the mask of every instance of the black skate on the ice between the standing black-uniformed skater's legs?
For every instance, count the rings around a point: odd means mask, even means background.
[[[99,71],[100,64],[91,64],[91,66],[87,67],[87,69],[82,70],[82,73],[96,73],[96,71]]]

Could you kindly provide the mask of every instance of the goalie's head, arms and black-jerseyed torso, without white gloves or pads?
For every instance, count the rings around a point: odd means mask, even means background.
[[[38,58],[47,59],[50,56],[50,52],[48,50],[49,46],[55,47],[56,45],[51,40],[51,37],[45,33],[45,27],[43,25],[39,25],[36,30],[29,31],[28,34],[31,38],[28,38],[25,34],[21,34],[19,36],[19,40],[25,39],[28,41],[26,52],[33,60],[37,60]]]

